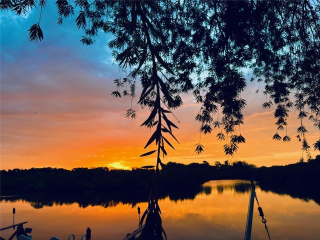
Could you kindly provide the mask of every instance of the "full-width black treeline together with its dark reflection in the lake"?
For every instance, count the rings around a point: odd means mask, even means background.
[[[320,155],[307,162],[285,166],[256,167],[242,161],[232,164],[215,162],[168,162],[159,178],[159,198],[193,199],[199,192],[209,192],[202,183],[217,179],[254,179],[262,190],[290,194],[320,204]],[[147,201],[148,184],[153,169],[132,170],[97,168],[30,168],[1,170],[1,195],[18,195],[37,206],[78,202],[80,206],[135,205]],[[317,187],[315,187],[317,186]],[[11,198],[12,199],[12,198]],[[42,199],[43,202],[38,199]]]

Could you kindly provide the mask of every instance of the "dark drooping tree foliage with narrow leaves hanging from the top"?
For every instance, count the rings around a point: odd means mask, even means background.
[[[311,146],[306,140],[304,120],[320,130],[320,1],[108,1],[57,0],[59,17],[77,12],[75,23],[83,29],[80,41],[92,44],[98,31],[112,33],[109,42],[114,58],[127,77],[115,79],[114,97],[135,96],[140,80],[141,107],[150,110],[141,124],[154,129],[145,148],[156,149],[156,171],[170,139],[177,140],[170,119],[172,110],[181,106],[181,93],[193,93],[200,109],[195,119],[200,135],[218,128],[217,139],[225,142],[225,154],[232,155],[245,142],[240,126],[246,101],[244,71],[264,85],[262,107],[275,106],[275,140],[289,141],[286,134],[288,112],[298,112],[297,139],[303,153],[320,150],[320,139]],[[25,14],[46,0],[1,0],[2,10]],[[41,12],[40,12],[41,14]],[[40,18],[39,18],[40,19]],[[29,29],[31,40],[42,40],[40,20]],[[129,85],[129,88],[123,88]],[[293,96],[292,96],[293,95]],[[293,99],[292,99],[293,98]],[[127,117],[134,118],[131,107]],[[282,133],[284,132],[284,133]],[[195,151],[203,151],[199,141]],[[162,165],[163,166],[163,165]],[[153,204],[153,203],[152,203]],[[155,204],[156,206],[156,204]]]

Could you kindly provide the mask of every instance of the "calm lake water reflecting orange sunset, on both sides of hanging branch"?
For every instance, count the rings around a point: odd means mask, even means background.
[[[206,182],[205,190],[194,199],[159,199],[167,239],[244,239],[249,185],[244,180],[213,180]],[[258,185],[255,192],[271,239],[320,239],[319,204],[313,200],[262,191]],[[1,227],[12,224],[14,207],[15,223],[27,221],[24,226],[32,228],[34,240],[49,240],[51,236],[66,240],[71,233],[79,240],[87,227],[91,228],[92,240],[121,240],[126,233],[137,228],[137,207],[141,208],[142,213],[147,203],[86,207],[78,203],[59,202],[39,205],[22,199],[1,198]],[[12,229],[1,231],[4,238],[11,234]],[[268,239],[256,201],[251,239]]]

